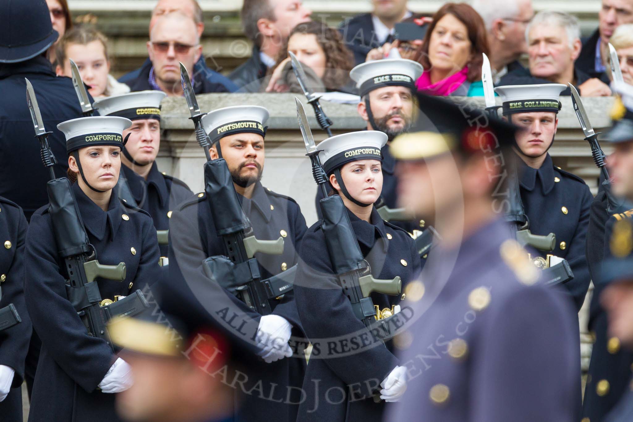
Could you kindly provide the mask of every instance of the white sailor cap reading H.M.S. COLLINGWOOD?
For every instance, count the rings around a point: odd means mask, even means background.
[[[561,108],[560,93],[567,89],[563,84],[508,85],[496,87],[501,97],[503,115],[530,113],[530,111],[553,111]]]

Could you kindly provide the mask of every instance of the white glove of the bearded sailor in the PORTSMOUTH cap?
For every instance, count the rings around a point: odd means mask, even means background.
[[[288,345],[292,326],[279,315],[264,315],[260,319],[257,328],[258,347],[262,350],[258,353],[266,363],[292,356],[292,349]]]

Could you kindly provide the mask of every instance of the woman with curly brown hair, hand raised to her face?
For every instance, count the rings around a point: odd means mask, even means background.
[[[353,54],[341,34],[321,22],[299,23],[280,50],[266,92],[303,92],[297,83],[288,52],[297,56],[315,92],[353,90],[349,71],[354,67]],[[348,85],[348,86],[346,86]]]

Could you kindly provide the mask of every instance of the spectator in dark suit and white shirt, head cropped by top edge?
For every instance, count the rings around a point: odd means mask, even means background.
[[[341,34],[345,45],[354,53],[356,65],[365,63],[371,49],[394,40],[396,23],[411,16],[406,2],[372,0],[372,13],[362,13],[342,23]]]

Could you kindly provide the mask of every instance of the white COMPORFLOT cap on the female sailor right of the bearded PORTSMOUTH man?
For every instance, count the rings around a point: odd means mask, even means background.
[[[387,144],[387,135],[377,130],[342,133],[323,142],[316,149],[322,149],[318,156],[323,171],[327,175],[343,164],[359,159],[377,159],[382,161],[380,149]]]

